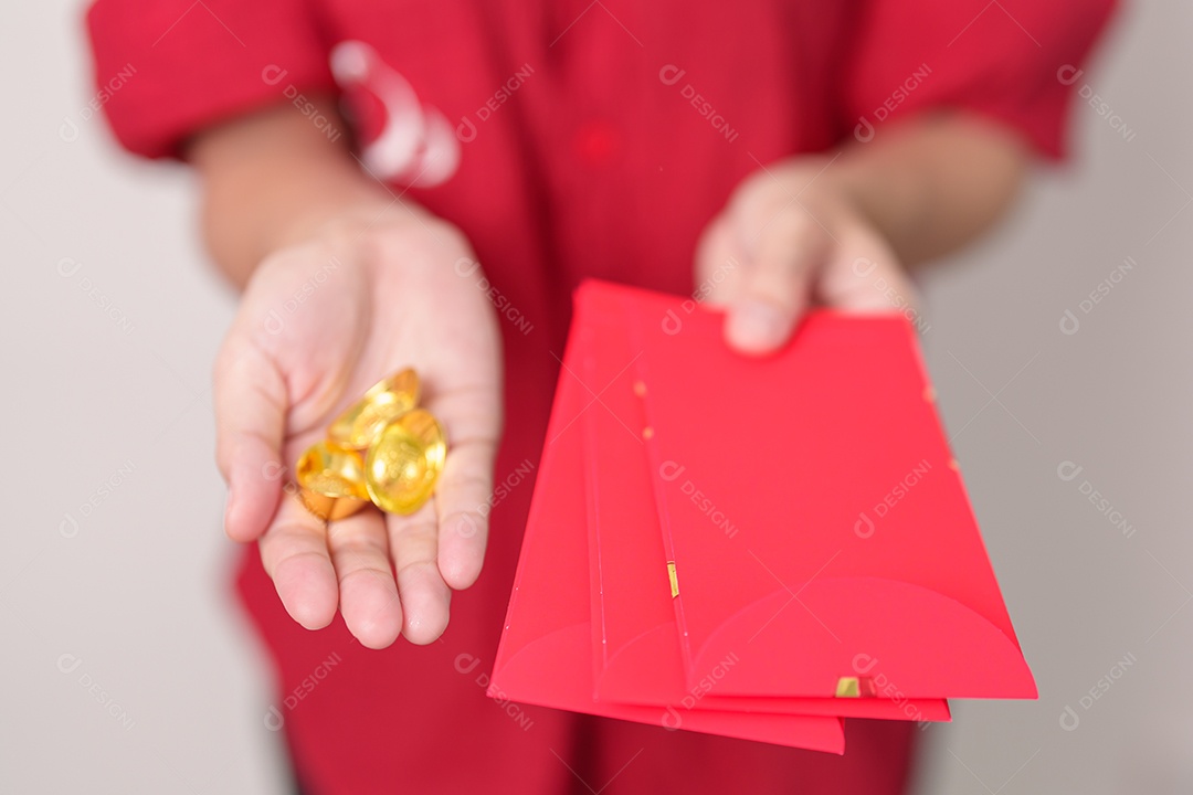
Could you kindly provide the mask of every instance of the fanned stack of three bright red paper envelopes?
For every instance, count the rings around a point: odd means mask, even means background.
[[[1034,698],[907,319],[722,321],[576,292],[489,695],[836,753]]]

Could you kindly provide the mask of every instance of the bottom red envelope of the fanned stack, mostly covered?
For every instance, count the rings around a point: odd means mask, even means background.
[[[577,308],[579,310],[580,308]],[[569,374],[575,335],[564,356],[546,445],[488,695],[523,703],[841,753],[836,718],[752,715],[593,700],[588,603],[588,536],[582,436],[577,420],[592,396]]]

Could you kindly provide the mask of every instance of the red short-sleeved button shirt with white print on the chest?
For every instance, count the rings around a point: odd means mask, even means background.
[[[690,293],[698,235],[742,178],[908,113],[964,108],[1059,157],[1112,2],[98,0],[95,76],[128,149],[174,155],[274,103],[320,126],[305,98],[341,92],[364,162],[464,230],[503,318],[507,493],[440,642],[377,652],[340,620],[307,632],[246,548],[239,586],[279,684],[265,723],[284,723],[305,785],[902,791],[907,723],[849,721],[837,758],[486,698],[532,491],[519,472],[538,460],[582,277]]]

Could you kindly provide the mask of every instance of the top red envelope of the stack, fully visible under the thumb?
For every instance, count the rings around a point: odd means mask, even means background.
[[[688,688],[1033,698],[914,331],[815,312],[748,359],[691,302],[589,282],[624,324]],[[620,305],[616,315],[614,305]]]

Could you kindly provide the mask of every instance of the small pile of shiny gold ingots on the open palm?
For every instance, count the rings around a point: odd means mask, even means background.
[[[311,445],[295,466],[307,509],[327,521],[372,503],[413,514],[435,489],[447,445],[434,416],[419,405],[419,377],[403,369],[375,384]]]

